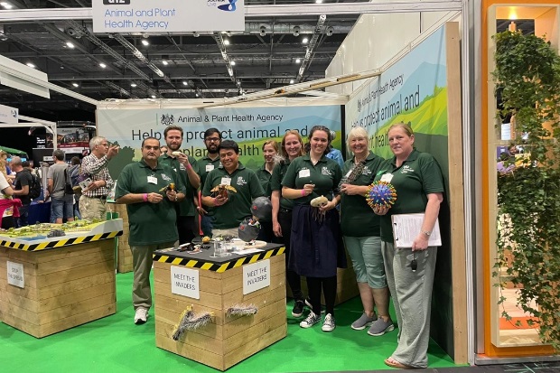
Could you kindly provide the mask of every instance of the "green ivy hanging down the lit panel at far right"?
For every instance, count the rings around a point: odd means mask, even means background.
[[[560,57],[536,35],[506,31],[493,38],[498,117],[515,117],[516,144],[527,153],[498,176],[493,275],[501,288],[508,281],[518,289],[518,306],[532,316],[527,323],[560,350]]]

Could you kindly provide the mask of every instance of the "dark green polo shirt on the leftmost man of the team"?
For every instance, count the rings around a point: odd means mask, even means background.
[[[158,163],[153,170],[144,160],[129,163],[118,175],[115,199],[129,193],[160,193],[160,189],[170,182],[175,183],[177,191],[185,191],[181,179],[167,165]],[[175,202],[168,200],[166,196],[163,196],[160,203],[127,204],[126,211],[130,224],[129,245],[154,245],[179,239],[175,225]]]

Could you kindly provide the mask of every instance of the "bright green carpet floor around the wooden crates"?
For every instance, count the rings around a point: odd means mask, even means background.
[[[131,301],[132,274],[117,275],[117,313],[61,331],[41,340],[0,322],[0,372],[217,372],[155,347],[154,317],[135,325]],[[1,302],[1,300],[0,300]],[[322,372],[386,369],[396,347],[397,330],[370,337],[353,331],[350,323],[361,312],[359,298],[336,309],[337,328],[331,333],[317,325],[304,330],[287,305],[288,335],[266,350],[229,368],[228,372]],[[434,342],[430,368],[453,367],[453,360]]]

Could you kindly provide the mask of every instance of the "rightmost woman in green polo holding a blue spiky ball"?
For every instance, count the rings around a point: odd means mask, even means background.
[[[397,313],[397,350],[385,360],[393,368],[426,368],[430,340],[430,312],[437,247],[428,240],[443,201],[443,176],[434,156],[418,152],[412,128],[389,127],[388,143],[395,156],[380,167],[376,180],[390,182],[397,191],[391,209],[374,207],[381,216],[381,251],[387,283]],[[396,248],[391,216],[424,213],[412,247]],[[414,264],[413,264],[414,261]]]

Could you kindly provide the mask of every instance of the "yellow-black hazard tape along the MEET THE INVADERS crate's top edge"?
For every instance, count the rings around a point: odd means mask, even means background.
[[[195,260],[182,256],[168,256],[168,255],[154,254],[153,258],[154,258],[154,262],[169,263],[172,264],[173,266],[187,266],[190,268],[200,268],[207,271],[223,273],[229,269],[237,268],[238,266],[255,263],[259,260],[268,259],[272,256],[282,255],[284,254],[284,252],[285,252],[285,247],[278,247],[252,256],[240,257],[238,259],[231,260],[230,262],[224,262],[220,264],[206,262],[203,260]]]

